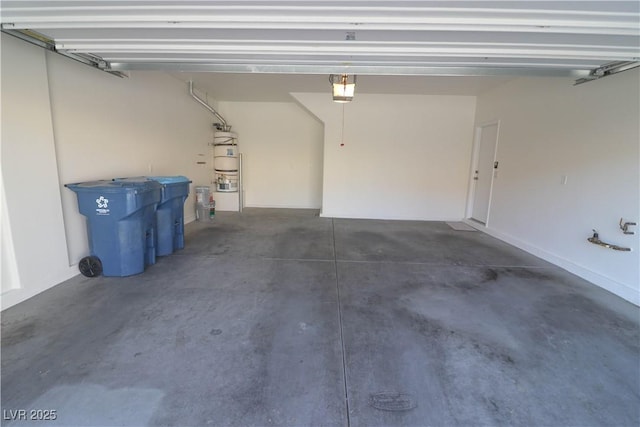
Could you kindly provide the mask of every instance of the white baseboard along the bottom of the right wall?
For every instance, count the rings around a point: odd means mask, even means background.
[[[531,245],[509,234],[485,227],[484,225],[476,221],[465,219],[463,220],[463,222],[479,231],[488,234],[491,237],[495,237],[496,239],[509,243],[510,245],[522,249],[523,251],[529,252],[530,254],[535,255],[538,258],[542,258],[545,261],[548,261],[564,270],[567,270],[568,272],[573,273],[576,276],[579,276],[593,283],[594,285],[599,286],[619,296],[620,298],[629,301],[632,304],[640,306],[640,292],[628,285],[625,285],[624,283],[620,283],[617,280],[613,280],[600,273],[596,273],[595,271],[592,271],[582,265],[576,264],[573,261],[569,261],[568,259],[555,255],[554,253]]]

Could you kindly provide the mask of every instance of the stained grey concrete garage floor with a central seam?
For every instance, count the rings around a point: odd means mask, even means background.
[[[638,307],[483,233],[278,210],[188,230],[144,274],[2,313],[4,425],[640,424]]]

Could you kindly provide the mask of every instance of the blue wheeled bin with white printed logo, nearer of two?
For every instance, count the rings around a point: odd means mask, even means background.
[[[87,217],[91,256],[78,267],[85,276],[131,276],[156,261],[156,207],[161,185],[145,181],[67,184]]]

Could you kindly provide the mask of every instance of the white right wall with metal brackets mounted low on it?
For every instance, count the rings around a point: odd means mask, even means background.
[[[522,78],[480,96],[476,115],[500,120],[488,231],[635,304],[640,230],[618,222],[640,220],[639,86],[637,70],[579,86]],[[594,228],[633,252],[587,242]]]

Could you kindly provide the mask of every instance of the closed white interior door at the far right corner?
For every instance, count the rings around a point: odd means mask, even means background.
[[[491,201],[491,185],[493,183],[493,163],[496,158],[496,144],[498,141],[498,124],[480,127],[478,138],[477,161],[473,170],[474,191],[471,218],[483,224],[489,218],[489,204]]]

